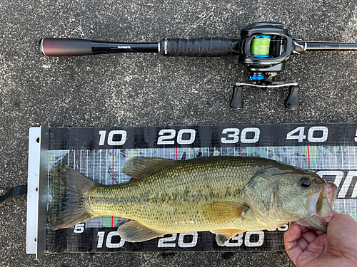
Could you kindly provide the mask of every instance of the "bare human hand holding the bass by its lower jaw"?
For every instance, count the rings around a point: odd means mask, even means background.
[[[298,267],[357,266],[357,221],[333,211],[327,232],[294,221],[284,234],[286,253]]]

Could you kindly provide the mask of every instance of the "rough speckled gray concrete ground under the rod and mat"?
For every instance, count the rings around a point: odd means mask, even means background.
[[[357,53],[318,52],[288,61],[279,77],[301,85],[301,106],[284,108],[287,89],[243,90],[238,58],[117,54],[46,58],[43,37],[158,41],[236,38],[256,21],[278,21],[306,41],[356,41],[356,1],[329,0],[0,0],[0,189],[25,184],[29,127],[357,122]],[[26,255],[26,197],[0,206],[1,266],[293,266],[286,253],[64,253]]]

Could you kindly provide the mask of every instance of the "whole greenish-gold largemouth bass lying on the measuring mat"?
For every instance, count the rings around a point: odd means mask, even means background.
[[[290,221],[326,231],[337,191],[335,184],[311,171],[256,157],[136,157],[122,172],[136,179],[98,184],[54,164],[49,227],[56,230],[110,215],[133,220],[118,229],[125,241],[211,231],[224,246],[236,234]]]

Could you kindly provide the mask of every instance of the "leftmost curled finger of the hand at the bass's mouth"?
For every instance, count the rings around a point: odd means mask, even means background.
[[[298,240],[301,239],[301,229],[298,225],[292,225],[284,234],[284,246],[286,253],[293,263],[296,263],[298,256],[303,253]]]

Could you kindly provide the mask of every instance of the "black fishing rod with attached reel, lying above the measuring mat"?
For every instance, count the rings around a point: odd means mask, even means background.
[[[273,77],[285,68],[291,55],[306,51],[356,51],[357,43],[307,42],[292,38],[281,23],[253,23],[241,31],[241,39],[233,38],[164,38],[158,43],[112,43],[73,38],[43,38],[41,52],[45,56],[89,56],[103,53],[159,53],[161,56],[218,57],[239,56],[248,68],[251,83],[233,86],[231,108],[243,108],[243,85],[261,88],[288,86],[286,108],[299,105],[298,83],[284,83]]]

